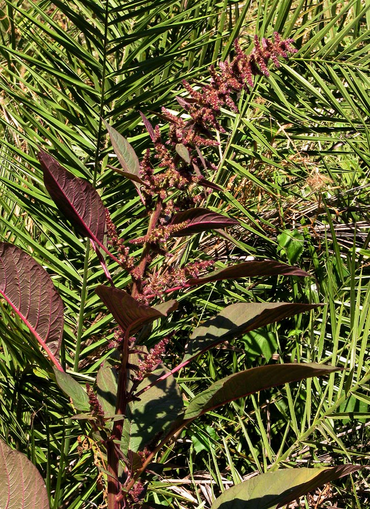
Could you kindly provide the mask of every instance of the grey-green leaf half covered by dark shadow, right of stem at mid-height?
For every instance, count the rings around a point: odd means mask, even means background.
[[[189,362],[200,353],[245,332],[277,322],[320,304],[287,302],[237,303],[225,307],[216,317],[197,327],[190,336],[182,362]]]

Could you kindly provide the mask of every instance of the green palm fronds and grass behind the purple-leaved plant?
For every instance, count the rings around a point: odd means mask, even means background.
[[[125,239],[144,235],[134,186],[109,167],[115,159],[101,119],[143,154],[151,141],[139,110],[166,132],[155,114],[162,106],[178,110],[181,80],[207,81],[209,65],[232,54],[236,37],[246,51],[255,34],[294,38],[298,52],[240,96],[240,114],[223,111],[226,133],[209,156],[217,171],[208,178],[224,190],[204,204],[240,220],[237,240],[202,235],[173,253],[182,263],[200,256],[219,266],[269,258],[313,277],[217,282],[188,291],[174,317],[182,332],[169,355],[181,355],[187,331],[227,303],[323,302],[311,316],[220,348],[178,381],[192,395],[236,366],[297,359],[346,370],[204,417],[158,459],[167,480],[158,476],[151,497],[175,507],[209,507],[213,492],[271,465],[366,465],[370,6],[358,0],[57,0],[2,2],[0,14],[1,239],[32,253],[54,279],[66,308],[65,360],[81,382],[93,380],[112,337],[110,317],[96,312],[102,271],[88,244],[56,219],[36,152],[44,148],[92,182]],[[128,281],[123,277],[122,287]],[[99,451],[84,429],[63,418],[68,402],[50,382],[47,359],[1,306],[0,436],[38,466],[51,507],[99,505],[101,478],[93,468]],[[322,498],[329,506],[365,507],[367,477],[364,469],[327,487]],[[314,507],[319,496],[303,503]]]

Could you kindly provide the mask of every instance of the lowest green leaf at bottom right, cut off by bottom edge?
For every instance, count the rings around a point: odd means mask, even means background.
[[[358,465],[289,468],[256,475],[226,490],[211,509],[275,509],[359,468]]]

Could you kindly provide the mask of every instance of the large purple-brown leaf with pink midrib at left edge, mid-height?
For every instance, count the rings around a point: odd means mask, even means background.
[[[45,269],[29,254],[0,242],[0,295],[27,325],[59,371],[63,302]]]

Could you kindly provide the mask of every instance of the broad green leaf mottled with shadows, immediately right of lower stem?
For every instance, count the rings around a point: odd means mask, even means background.
[[[168,373],[165,367],[155,370],[144,378],[137,391],[155,383]],[[151,441],[157,443],[171,424],[183,412],[179,386],[172,375],[140,394],[140,401],[129,403],[123,425],[121,448],[137,452]]]

